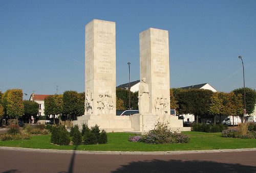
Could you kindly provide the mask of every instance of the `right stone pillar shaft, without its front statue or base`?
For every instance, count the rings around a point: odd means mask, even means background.
[[[140,79],[146,78],[152,114],[170,114],[168,43],[168,31],[150,28],[140,33]]]

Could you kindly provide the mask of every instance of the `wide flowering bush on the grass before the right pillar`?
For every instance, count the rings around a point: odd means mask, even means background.
[[[141,138],[131,138],[130,141],[140,141],[144,143],[159,144],[159,143],[187,143],[189,137],[184,134],[172,133],[164,123],[158,123],[156,129],[151,130]]]

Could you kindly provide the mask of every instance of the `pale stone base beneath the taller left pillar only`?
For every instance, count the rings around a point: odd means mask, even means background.
[[[77,117],[74,125],[78,125],[81,129],[82,124],[86,123],[88,127],[95,125],[99,126],[100,130],[106,132],[125,132],[134,131],[131,127],[131,120],[129,116],[115,116],[115,115],[82,115]]]

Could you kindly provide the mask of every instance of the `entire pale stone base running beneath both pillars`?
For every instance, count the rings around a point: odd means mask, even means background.
[[[158,122],[164,122],[172,132],[190,131],[189,127],[183,127],[182,119],[173,115],[134,114],[131,116],[115,115],[82,115],[73,123],[81,129],[86,123],[89,128],[95,125],[106,132],[135,132],[143,134],[155,129]]]

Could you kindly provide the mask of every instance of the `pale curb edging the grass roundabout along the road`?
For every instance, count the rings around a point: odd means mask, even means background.
[[[22,148],[22,147],[0,146],[0,150],[40,152],[40,153],[62,153],[62,154],[76,153],[76,154],[93,154],[93,155],[180,155],[180,154],[195,154],[195,153],[250,152],[250,151],[256,151],[256,148],[222,149],[222,150],[191,150],[191,151],[122,152],[122,151],[28,149],[28,148]]]

